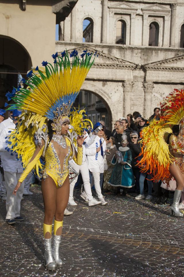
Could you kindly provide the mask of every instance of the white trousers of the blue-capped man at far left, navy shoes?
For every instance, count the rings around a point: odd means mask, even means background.
[[[14,188],[22,173],[4,171],[5,184],[6,184],[6,219],[15,218],[20,216],[20,202],[24,192],[24,182],[22,182],[16,195],[13,194]]]

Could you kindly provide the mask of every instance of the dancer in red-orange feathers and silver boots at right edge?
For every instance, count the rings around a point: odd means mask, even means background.
[[[160,121],[153,119],[141,132],[143,157],[139,166],[143,172],[150,170],[153,179],[166,180],[167,184],[174,177],[177,188],[171,215],[183,217],[179,201],[184,188],[184,90],[174,89],[160,107]]]

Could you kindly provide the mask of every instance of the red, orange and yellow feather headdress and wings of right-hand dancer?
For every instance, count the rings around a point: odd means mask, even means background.
[[[150,171],[154,180],[170,177],[169,164],[173,163],[174,157],[166,141],[174,125],[179,125],[180,130],[183,128],[184,90],[174,89],[160,102],[160,107],[160,121],[153,119],[141,131],[141,160],[138,162],[142,172]]]

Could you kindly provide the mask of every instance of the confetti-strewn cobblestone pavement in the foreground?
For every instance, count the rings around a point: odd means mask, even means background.
[[[14,226],[7,225],[5,201],[0,201],[0,276],[183,276],[184,218],[171,217],[169,205],[136,201],[131,194],[106,195],[108,205],[88,207],[79,191],[74,191],[78,205],[68,207],[74,214],[64,217],[64,266],[47,271],[41,190],[31,190],[34,195],[22,201],[25,221]]]

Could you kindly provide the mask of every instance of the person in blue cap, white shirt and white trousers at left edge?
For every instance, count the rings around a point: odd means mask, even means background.
[[[16,123],[18,123],[18,115],[20,114],[21,112],[14,110],[12,115],[13,124],[5,127],[5,129],[2,130],[0,134],[0,154],[4,169],[5,186],[7,192],[6,219],[8,224],[14,224],[16,221],[24,220],[24,218],[20,216],[20,202],[24,191],[24,182],[22,182],[20,189],[17,191],[17,194],[13,194],[17,181],[23,172],[23,166],[21,161],[17,160],[16,153],[11,152],[9,148],[10,145],[7,143],[7,138],[9,137],[11,130],[16,128]]]

